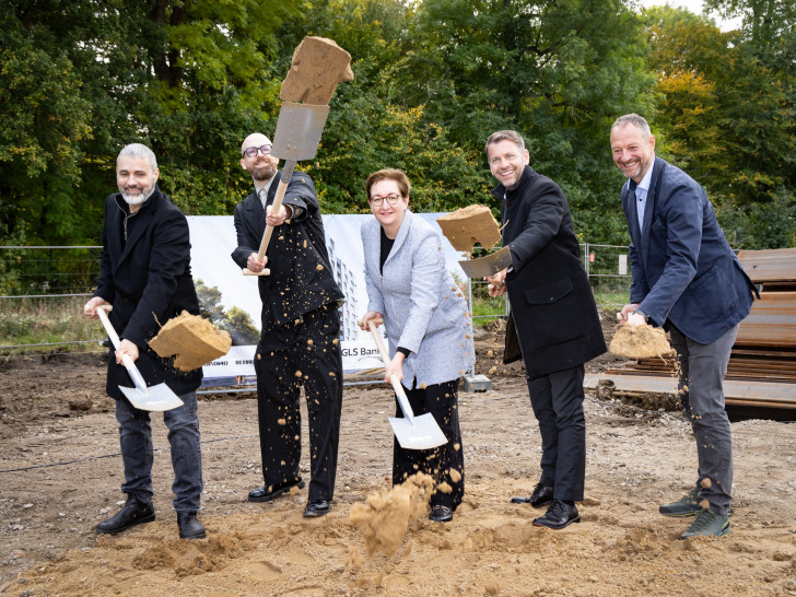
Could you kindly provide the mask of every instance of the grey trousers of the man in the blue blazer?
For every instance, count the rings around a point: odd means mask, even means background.
[[[680,364],[680,402],[696,440],[699,497],[707,500],[713,512],[726,515],[733,488],[733,435],[723,383],[738,326],[710,344],[691,340],[674,326],[669,333]]]

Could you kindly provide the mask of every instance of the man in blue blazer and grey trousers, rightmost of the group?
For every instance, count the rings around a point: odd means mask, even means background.
[[[613,161],[629,180],[622,209],[630,231],[632,285],[621,317],[666,329],[679,362],[678,393],[691,419],[699,471],[691,491],[660,506],[696,516],[681,539],[729,532],[733,438],[723,381],[754,284],[729,247],[704,189],[655,156],[655,137],[636,114],[611,127]]]

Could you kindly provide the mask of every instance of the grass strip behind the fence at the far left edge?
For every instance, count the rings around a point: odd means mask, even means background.
[[[2,298],[0,352],[51,352],[52,346],[30,344],[54,343],[59,343],[59,351],[96,351],[97,341],[105,338],[105,330],[98,320],[83,316],[86,300],[86,296]]]

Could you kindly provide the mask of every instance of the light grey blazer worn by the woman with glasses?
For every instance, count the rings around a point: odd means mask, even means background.
[[[383,276],[381,230],[375,218],[362,224],[367,309],[384,316],[390,355],[398,347],[411,351],[403,361],[403,386],[457,379],[475,362],[472,321],[445,265],[440,235],[407,210]]]

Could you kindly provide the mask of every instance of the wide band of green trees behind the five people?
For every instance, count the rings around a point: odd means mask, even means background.
[[[136,141],[186,213],[231,213],[251,188],[241,141],[273,134],[305,35],[335,39],[355,73],[300,164],[328,213],[366,212],[364,182],[383,167],[408,173],[414,210],[496,212],[483,143],[513,128],[564,189],[578,235],[625,244],[608,129],[636,112],[734,237],[794,243],[789,215],[777,219],[796,192],[786,0],[707,0],[744,17],[730,33],[625,0],[0,1],[3,244],[98,243],[115,157]]]

